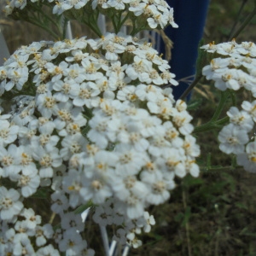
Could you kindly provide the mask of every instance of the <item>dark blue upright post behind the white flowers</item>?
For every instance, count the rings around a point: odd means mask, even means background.
[[[174,43],[170,65],[177,80],[195,75],[197,47],[202,38],[209,2],[210,0],[167,0],[174,9],[174,20],[179,26],[166,28],[166,35]],[[163,44],[160,52],[164,52]],[[173,86],[175,98],[182,96],[188,86],[184,82]]]

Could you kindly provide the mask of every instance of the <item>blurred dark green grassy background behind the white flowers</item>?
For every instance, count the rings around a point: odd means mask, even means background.
[[[237,19],[241,4],[245,3]],[[226,41],[236,20],[236,29],[253,10],[255,0],[212,0],[205,28],[205,42]],[[0,19],[10,52],[22,44],[51,39],[46,32],[25,22]],[[236,30],[235,29],[235,30]],[[81,36],[86,27],[73,25],[73,35]],[[237,42],[256,42],[256,17],[236,38]],[[90,37],[90,35],[89,35]],[[243,94],[242,99],[247,95]],[[207,123],[219,101],[219,94],[208,81],[194,90],[191,103],[194,124]],[[229,105],[230,102],[227,102]],[[226,107],[225,111],[230,108]],[[201,144],[201,176],[177,179],[168,203],[150,208],[156,225],[150,234],[143,235],[143,246],[131,250],[140,256],[255,256],[256,255],[256,174],[234,167],[232,156],[221,153],[218,131],[197,135]],[[233,165],[232,165],[233,162]],[[48,211],[48,203],[42,204]],[[40,208],[42,210],[42,207]],[[96,226],[87,227],[91,232]],[[88,231],[88,230],[87,230]],[[89,232],[89,231],[88,231]],[[91,247],[102,243],[100,236],[90,236]],[[102,251],[96,253],[102,255]]]

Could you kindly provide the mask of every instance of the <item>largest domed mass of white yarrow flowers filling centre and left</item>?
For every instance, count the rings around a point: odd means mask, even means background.
[[[29,234],[36,235],[27,224],[24,241],[6,234],[20,234],[9,224],[20,223],[24,201],[42,187],[52,189],[51,210],[61,218],[60,230],[45,237],[61,252],[93,255],[72,212],[90,201],[97,223],[115,224],[116,239],[141,244],[136,234],[154,224],[145,208],[169,199],[175,176],[199,175],[186,103],[160,88],[177,84],[169,68],[150,44],[111,33],[33,43],[0,67],[3,98],[18,95],[12,114],[0,119],[0,177],[15,183],[0,191],[2,245],[32,250]],[[36,255],[58,255],[46,239],[41,246]],[[2,247],[1,254],[20,255]]]

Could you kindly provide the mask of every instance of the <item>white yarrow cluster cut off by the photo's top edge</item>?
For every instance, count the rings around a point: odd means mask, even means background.
[[[32,8],[33,3],[41,2],[41,0],[27,1],[30,3],[30,8]],[[22,10],[26,8],[27,1],[11,0],[5,6],[4,12],[7,15],[11,15],[14,9]],[[45,1],[52,5],[53,14],[64,14],[71,19],[76,17],[79,21],[86,19],[85,16],[96,15],[96,12],[100,11],[103,15],[109,16],[109,18],[116,15],[116,13],[118,13],[119,17],[121,16],[120,14],[125,13],[127,18],[129,16],[132,22],[137,22],[138,26],[147,26],[143,29],[162,29],[168,25],[177,27],[173,19],[173,9],[165,0],[57,0],[55,4],[53,0]],[[143,16],[143,18],[139,18],[140,16]]]

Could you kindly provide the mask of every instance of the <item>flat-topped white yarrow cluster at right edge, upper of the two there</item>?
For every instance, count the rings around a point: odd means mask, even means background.
[[[237,44],[235,40],[222,44],[207,44],[201,49],[217,54],[202,74],[212,79],[218,90],[250,90],[256,97],[256,46],[252,42]]]

